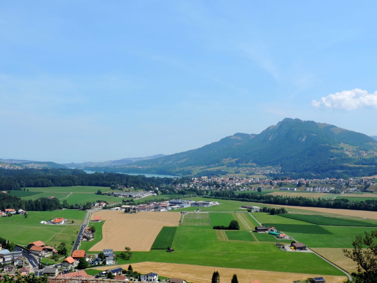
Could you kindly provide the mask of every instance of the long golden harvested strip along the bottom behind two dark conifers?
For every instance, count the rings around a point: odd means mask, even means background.
[[[121,265],[123,269],[127,269],[128,265]],[[219,271],[221,282],[230,282],[233,274],[237,274],[239,283],[250,283],[254,280],[259,280],[263,283],[288,283],[294,280],[305,280],[308,277],[319,277],[320,274],[303,274],[303,273],[288,273],[276,271],[261,271],[252,269],[238,269],[238,268],[222,268],[200,265],[184,265],[178,263],[159,263],[159,262],[141,262],[133,263],[133,270],[146,274],[148,272],[155,272],[158,275],[165,277],[182,278],[186,281],[194,283],[210,283],[213,271]],[[108,267],[98,268],[106,270]],[[341,283],[347,277],[326,275],[327,283]]]

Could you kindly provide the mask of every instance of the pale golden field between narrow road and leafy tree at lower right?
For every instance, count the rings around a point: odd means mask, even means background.
[[[342,248],[312,248],[322,257],[343,268],[348,273],[357,272],[357,263],[344,256]],[[348,249],[349,251],[352,249]]]

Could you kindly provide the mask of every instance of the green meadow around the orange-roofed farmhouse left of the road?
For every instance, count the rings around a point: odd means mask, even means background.
[[[80,224],[83,223],[86,211],[64,209],[57,211],[29,211],[28,218],[21,214],[0,218],[0,237],[14,241],[20,245],[28,245],[32,241],[41,240],[49,246],[58,246],[61,242],[70,244],[75,240]],[[68,219],[69,225],[40,224],[40,221],[56,217]]]

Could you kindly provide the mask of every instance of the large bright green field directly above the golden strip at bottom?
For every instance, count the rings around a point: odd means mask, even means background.
[[[235,231],[235,233],[238,232]],[[133,252],[130,260],[120,259],[118,264],[156,261],[226,268],[343,275],[338,269],[312,253],[286,252],[282,254],[283,252],[273,243],[266,242],[219,241],[216,231],[210,226],[178,226],[173,247],[174,252],[172,253],[163,250]],[[298,269],[297,266],[300,268]]]

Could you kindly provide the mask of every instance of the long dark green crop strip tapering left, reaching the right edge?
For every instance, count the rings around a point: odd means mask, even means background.
[[[342,219],[336,217],[326,217],[323,215],[306,215],[306,214],[280,214],[279,216],[306,221],[317,225],[333,225],[333,226],[359,226],[359,227],[377,227],[377,224],[367,221],[357,221]]]

